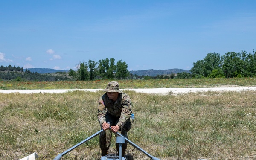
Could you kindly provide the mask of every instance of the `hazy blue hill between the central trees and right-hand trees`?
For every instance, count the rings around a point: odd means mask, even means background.
[[[183,69],[169,69],[169,70],[131,70],[130,74],[137,75],[137,76],[157,76],[157,75],[170,75],[171,73],[181,73],[187,72],[190,73],[189,70]]]

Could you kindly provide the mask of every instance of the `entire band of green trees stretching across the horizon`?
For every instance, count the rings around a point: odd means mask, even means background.
[[[256,52],[247,53],[227,52],[220,56],[219,53],[208,53],[205,58],[193,63],[190,73],[171,73],[169,75],[137,76],[128,71],[128,64],[121,60],[115,63],[114,58],[101,59],[98,62],[89,60],[77,65],[77,71],[72,69],[67,76],[52,76],[51,74],[31,73],[22,67],[0,67],[0,79],[3,80],[96,80],[96,79],[189,79],[189,78],[235,78],[256,76]],[[4,71],[4,72],[3,72]]]

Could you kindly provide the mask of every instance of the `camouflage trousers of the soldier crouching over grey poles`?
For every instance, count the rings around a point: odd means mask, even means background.
[[[106,117],[106,121],[110,122],[111,126],[114,126],[117,124],[117,122],[119,121],[119,117],[114,117],[111,114],[106,113],[105,115]],[[102,126],[101,126],[102,128]],[[127,131],[125,131],[124,129],[122,129],[122,131],[118,131],[120,134],[122,134],[124,137],[128,138],[127,136]],[[99,135],[99,146],[102,150],[107,150],[109,149],[110,145],[111,145],[111,138],[112,138],[112,131],[111,130],[106,130],[104,132],[102,132]],[[125,142],[125,144],[122,144],[122,150],[125,151],[127,148],[127,142]],[[119,144],[116,143],[116,149],[117,151],[119,151]]]

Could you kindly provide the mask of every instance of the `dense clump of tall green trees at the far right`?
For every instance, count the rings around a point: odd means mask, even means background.
[[[220,56],[219,53],[208,53],[202,60],[193,63],[190,70],[195,78],[234,78],[256,76],[256,52],[242,51],[227,52]]]

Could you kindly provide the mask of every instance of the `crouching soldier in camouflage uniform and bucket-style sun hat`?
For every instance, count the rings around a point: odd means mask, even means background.
[[[104,130],[99,135],[99,144],[102,150],[102,156],[108,154],[111,143],[112,132],[119,132],[126,138],[127,132],[131,129],[133,119],[131,116],[132,103],[128,94],[119,89],[119,83],[111,81],[108,83],[106,91],[99,99],[98,121]],[[108,123],[109,122],[109,123]],[[111,127],[111,130],[109,130]],[[122,157],[125,155],[127,142],[122,145]],[[119,144],[116,143],[116,149],[119,152]]]

